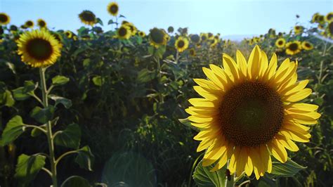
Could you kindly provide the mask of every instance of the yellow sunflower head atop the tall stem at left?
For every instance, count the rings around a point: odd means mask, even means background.
[[[46,30],[32,30],[20,35],[18,54],[23,62],[32,67],[46,67],[60,56],[61,45]]]

